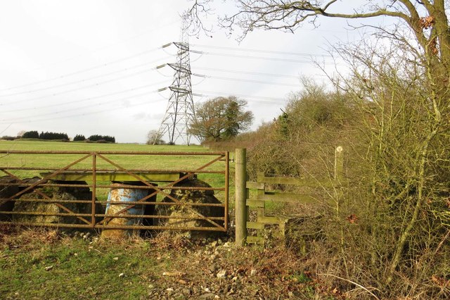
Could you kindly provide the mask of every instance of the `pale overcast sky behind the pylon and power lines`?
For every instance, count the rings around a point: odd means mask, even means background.
[[[232,2],[217,1],[222,8]],[[179,15],[191,4],[0,1],[0,136],[37,130],[145,142],[167,106],[169,91],[157,91],[172,83],[171,68],[155,67],[173,63],[176,47],[161,46],[179,41]],[[295,35],[255,31],[240,44],[220,30],[191,37],[191,50],[204,52],[191,54],[191,70],[207,76],[192,77],[193,92],[203,95],[194,104],[236,95],[248,101],[253,128],[272,120],[300,90],[300,76],[326,80],[314,60],[333,71],[328,44],[360,38],[345,20],[320,23]]]

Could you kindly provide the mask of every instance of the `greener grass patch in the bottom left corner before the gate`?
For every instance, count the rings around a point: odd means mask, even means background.
[[[90,246],[81,239],[68,239],[20,244],[24,249],[3,246],[0,298],[122,299],[126,294],[128,299],[139,299],[148,294],[149,283],[160,277],[164,265],[149,255],[148,243],[127,243]]]

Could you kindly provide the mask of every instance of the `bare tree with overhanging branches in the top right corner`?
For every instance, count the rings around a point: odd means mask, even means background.
[[[200,29],[201,19],[212,13],[210,4],[213,0],[196,0],[188,11],[191,25]],[[347,13],[341,13],[341,1],[284,1],[284,0],[235,0],[236,12],[220,18],[221,27],[233,32],[236,27],[242,30],[238,39],[243,39],[255,29],[283,30],[294,32],[304,23],[316,25],[319,18],[368,19],[377,17],[396,18],[402,27],[408,28],[422,52],[420,59],[432,72],[434,79],[448,86],[450,70],[450,30],[447,8],[444,0],[367,0],[361,5],[354,2],[354,7]],[[379,28],[386,35],[397,37],[396,30]],[[198,32],[198,30],[196,31]],[[445,81],[445,82],[442,82]]]

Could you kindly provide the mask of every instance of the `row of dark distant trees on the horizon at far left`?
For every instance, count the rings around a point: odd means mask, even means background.
[[[46,139],[46,140],[61,140],[69,141],[67,133],[58,132],[37,132],[37,130],[24,132],[22,136],[10,137],[3,136],[1,139],[14,140],[14,139]],[[97,143],[115,143],[115,137],[110,137],[109,135],[91,135],[86,139],[84,135],[75,135],[73,138],[74,142],[97,142]]]

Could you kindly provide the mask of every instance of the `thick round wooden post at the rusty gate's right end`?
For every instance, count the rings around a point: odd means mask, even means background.
[[[236,149],[236,246],[247,239],[247,163],[245,149]]]

